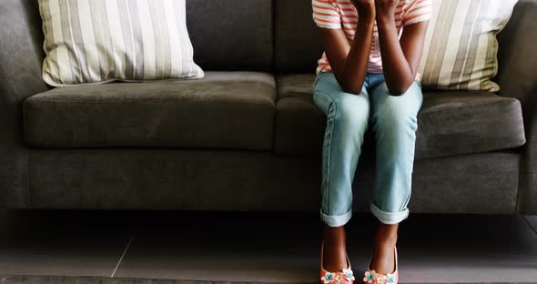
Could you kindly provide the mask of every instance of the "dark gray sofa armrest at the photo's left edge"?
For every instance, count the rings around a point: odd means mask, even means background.
[[[23,101],[48,89],[41,78],[37,1],[0,1],[0,208],[29,208]]]

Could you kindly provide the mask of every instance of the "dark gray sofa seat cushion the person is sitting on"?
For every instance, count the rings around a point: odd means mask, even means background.
[[[275,151],[320,155],[326,117],[313,103],[315,75],[277,79]],[[364,147],[374,145],[370,125]],[[481,153],[525,143],[521,104],[489,92],[424,92],[415,158]]]

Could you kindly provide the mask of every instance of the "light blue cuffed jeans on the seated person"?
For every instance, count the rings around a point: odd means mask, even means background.
[[[408,218],[417,116],[423,101],[420,83],[414,81],[401,96],[391,96],[384,75],[368,73],[360,95],[354,95],[341,89],[332,72],[321,72],[313,83],[313,100],[327,116],[321,220],[330,227],[350,220],[352,180],[370,122],[377,143],[371,213],[384,224]]]

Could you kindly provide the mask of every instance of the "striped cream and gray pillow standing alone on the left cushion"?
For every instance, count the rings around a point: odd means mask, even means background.
[[[39,0],[51,86],[201,78],[185,0]]]

